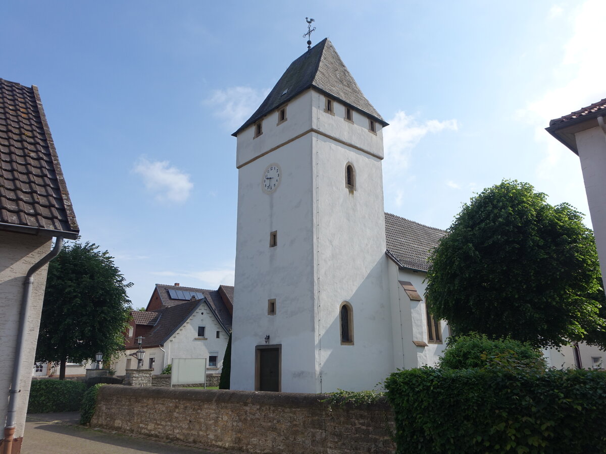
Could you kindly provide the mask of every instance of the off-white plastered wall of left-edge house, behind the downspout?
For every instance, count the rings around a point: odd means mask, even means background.
[[[12,381],[13,360],[19,317],[24,291],[25,274],[50,251],[52,240],[48,237],[0,231],[0,350],[2,370],[0,389],[8,391]],[[32,364],[36,355],[36,342],[42,314],[42,301],[46,285],[48,265],[33,275],[33,289],[27,314],[27,334],[24,339],[21,377],[19,378],[18,404],[16,408],[15,439],[23,436],[25,413],[32,382]],[[4,425],[8,400],[0,400],[0,415]]]

